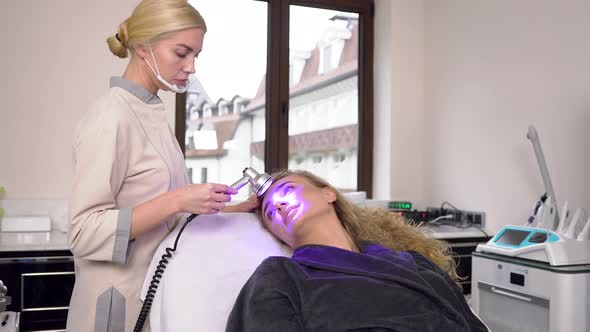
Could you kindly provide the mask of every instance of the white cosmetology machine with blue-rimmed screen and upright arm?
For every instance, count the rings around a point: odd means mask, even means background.
[[[473,253],[471,306],[493,331],[589,331],[590,241],[582,209],[561,214],[534,127],[546,193],[524,226],[504,226]]]

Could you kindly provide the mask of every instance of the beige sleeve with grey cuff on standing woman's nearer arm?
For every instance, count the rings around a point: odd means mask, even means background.
[[[90,116],[76,131],[68,242],[76,257],[125,264],[133,207],[117,206],[115,198],[125,180],[129,128],[113,114]]]

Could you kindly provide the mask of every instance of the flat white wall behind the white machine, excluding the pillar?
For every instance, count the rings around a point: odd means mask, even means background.
[[[544,192],[590,209],[590,2],[425,2],[428,200],[522,223]]]

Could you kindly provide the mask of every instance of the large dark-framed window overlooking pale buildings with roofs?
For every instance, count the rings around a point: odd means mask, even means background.
[[[245,166],[307,169],[370,197],[373,1],[190,2],[208,32],[194,84],[177,95],[177,136],[194,132],[187,165],[227,184]]]

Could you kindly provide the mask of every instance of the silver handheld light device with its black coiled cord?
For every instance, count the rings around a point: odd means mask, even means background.
[[[264,192],[270,187],[272,182],[273,181],[272,181],[272,178],[270,177],[270,175],[268,175],[266,173],[258,173],[253,168],[247,167],[243,171],[242,178],[240,178],[238,181],[233,183],[231,185],[231,187],[236,190],[240,190],[246,184],[250,183],[250,184],[252,184],[252,191],[257,196],[262,196],[264,194]],[[184,222],[184,224],[180,228],[178,235],[176,236],[176,240],[174,241],[174,247],[173,248],[166,248],[166,253],[162,255],[162,259],[160,260],[160,262],[156,268],[156,272],[154,273],[154,276],[152,277],[150,287],[149,287],[146,297],[143,301],[143,306],[142,306],[141,311],[139,313],[139,317],[137,318],[137,321],[135,323],[135,328],[133,329],[135,332],[140,332],[141,329],[143,328],[143,325],[145,324],[145,320],[148,317],[148,314],[150,312],[150,308],[151,308],[152,303],[154,301],[154,296],[156,295],[156,290],[158,288],[158,284],[160,283],[160,279],[162,279],[162,274],[164,273],[164,269],[166,269],[166,265],[168,264],[168,259],[170,259],[172,257],[172,253],[174,251],[176,251],[176,247],[178,245],[178,240],[180,239],[180,235],[182,234],[182,231],[185,229],[185,227],[188,225],[188,223],[190,223],[197,216],[198,216],[198,214],[192,214],[186,219],[186,221]]]

